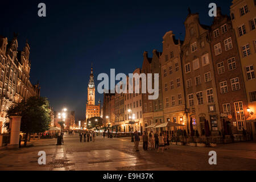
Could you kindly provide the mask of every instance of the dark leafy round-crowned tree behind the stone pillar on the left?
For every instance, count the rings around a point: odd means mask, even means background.
[[[49,101],[44,97],[30,97],[27,101],[15,103],[7,110],[7,117],[21,116],[20,131],[26,133],[25,146],[31,133],[43,133],[49,129],[51,110]],[[5,123],[9,129],[10,123]]]

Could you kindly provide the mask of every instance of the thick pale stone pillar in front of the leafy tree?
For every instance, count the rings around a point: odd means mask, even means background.
[[[19,148],[19,133],[20,133],[20,116],[11,116],[11,139],[7,148],[18,149]]]

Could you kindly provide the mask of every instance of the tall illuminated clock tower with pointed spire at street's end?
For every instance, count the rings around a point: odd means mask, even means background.
[[[93,67],[90,71],[90,79],[87,88],[87,102],[86,102],[86,123],[88,123],[90,118],[100,117],[101,113],[101,104],[100,101],[98,105],[95,104],[95,84],[94,84],[94,75],[93,75]]]

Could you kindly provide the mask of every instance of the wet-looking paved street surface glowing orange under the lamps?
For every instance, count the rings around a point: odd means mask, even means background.
[[[176,171],[176,170],[256,170],[256,143],[221,144],[215,148],[170,146],[164,153],[134,151],[130,138],[97,137],[80,143],[78,136],[32,142],[20,150],[0,150],[0,170],[31,171]],[[47,164],[38,164],[38,152],[45,151]],[[209,151],[217,152],[217,165],[208,163]]]

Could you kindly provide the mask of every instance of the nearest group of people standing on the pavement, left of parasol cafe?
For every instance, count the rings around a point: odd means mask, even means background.
[[[148,134],[146,131],[144,131],[142,135],[143,139],[143,150],[158,150],[161,152],[164,152],[164,150],[167,150],[170,146],[169,142],[169,135],[167,131],[155,132],[155,134],[152,133],[152,131]],[[134,133],[134,143],[135,143],[135,150],[139,151],[139,134],[138,131],[135,131]]]

